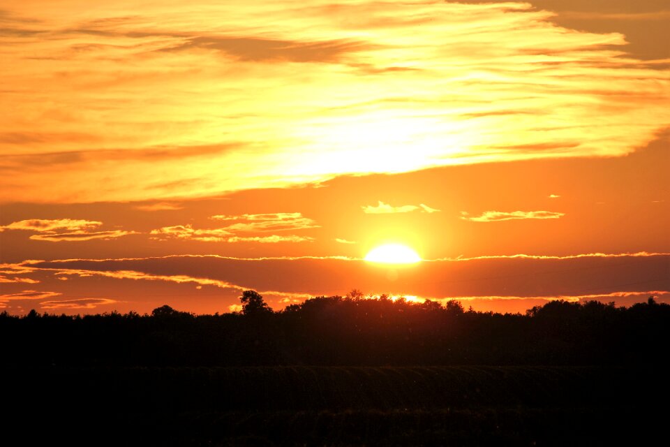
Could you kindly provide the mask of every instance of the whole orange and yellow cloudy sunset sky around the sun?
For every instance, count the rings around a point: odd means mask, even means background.
[[[670,302],[665,0],[6,0],[0,311]],[[418,263],[365,261],[402,244]]]

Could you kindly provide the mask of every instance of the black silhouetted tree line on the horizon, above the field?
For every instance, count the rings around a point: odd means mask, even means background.
[[[526,314],[321,296],[270,309],[244,291],[242,310],[194,315],[165,305],[67,316],[0,314],[0,365],[660,365],[670,305],[556,300]]]

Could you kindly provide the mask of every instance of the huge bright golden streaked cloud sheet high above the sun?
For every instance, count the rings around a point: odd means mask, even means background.
[[[667,61],[634,59],[624,36],[560,27],[528,3],[4,8],[2,201],[168,200],[621,156],[670,123]]]

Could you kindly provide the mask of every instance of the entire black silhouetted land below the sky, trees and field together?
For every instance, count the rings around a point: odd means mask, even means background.
[[[667,444],[653,298],[501,315],[247,295],[241,314],[0,314],[0,420],[27,437],[10,445]]]

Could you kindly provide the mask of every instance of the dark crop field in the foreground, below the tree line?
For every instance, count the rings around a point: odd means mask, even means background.
[[[7,427],[142,446],[655,445],[643,367],[5,367]],[[53,439],[52,439],[53,441]],[[23,444],[17,444],[23,445]]]

